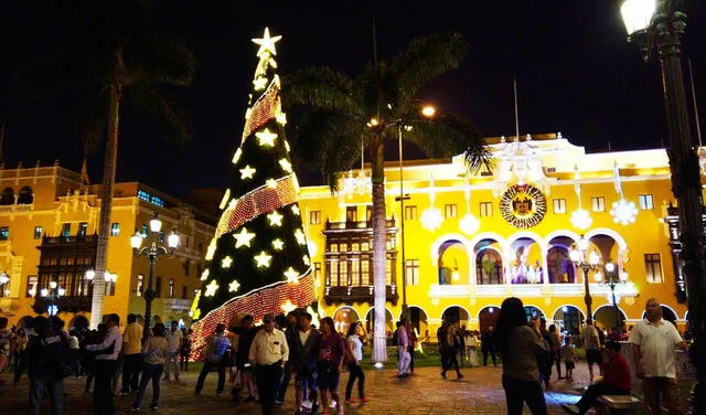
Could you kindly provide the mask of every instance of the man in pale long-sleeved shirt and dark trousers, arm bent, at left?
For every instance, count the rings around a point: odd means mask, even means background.
[[[106,320],[108,333],[100,344],[88,344],[86,350],[97,351],[96,355],[96,384],[93,390],[93,412],[100,415],[114,415],[113,380],[117,372],[118,355],[122,349],[122,334],[120,334],[120,317],[108,315]]]

